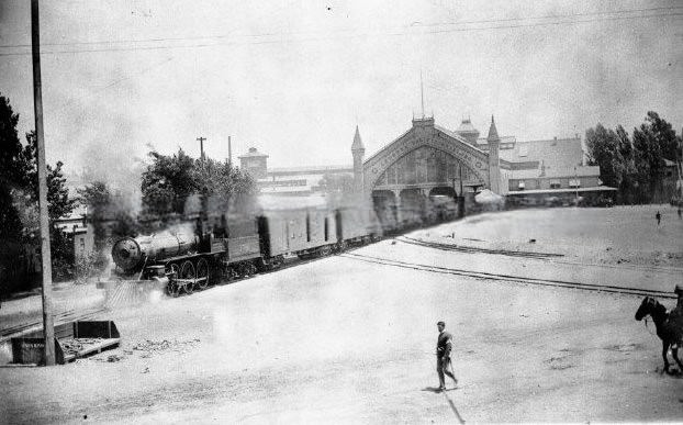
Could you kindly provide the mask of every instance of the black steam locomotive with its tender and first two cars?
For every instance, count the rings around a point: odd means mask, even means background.
[[[285,258],[325,256],[381,236],[373,209],[361,204],[214,214],[153,235],[116,241],[113,275],[155,282],[178,297],[219,280],[278,268]]]

